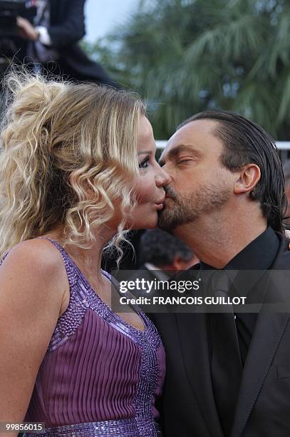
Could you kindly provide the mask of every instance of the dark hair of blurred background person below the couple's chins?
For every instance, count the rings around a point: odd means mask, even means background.
[[[172,263],[175,256],[190,261],[193,252],[183,241],[159,228],[150,229],[140,238],[140,258],[142,263],[152,263],[157,267]]]

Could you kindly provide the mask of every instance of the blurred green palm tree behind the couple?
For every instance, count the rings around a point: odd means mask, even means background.
[[[204,109],[228,109],[290,136],[287,0],[150,0],[88,47],[147,100],[157,138]]]

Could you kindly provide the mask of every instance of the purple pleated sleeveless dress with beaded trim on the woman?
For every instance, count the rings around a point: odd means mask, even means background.
[[[138,308],[145,331],[126,323],[59,243],[39,238],[63,256],[70,301],[58,318],[24,418],[46,428],[24,436],[161,436],[155,398],[165,377],[165,351],[155,326]]]

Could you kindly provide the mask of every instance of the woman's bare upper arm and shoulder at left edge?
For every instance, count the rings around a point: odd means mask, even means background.
[[[61,253],[48,241],[19,243],[0,267],[0,422],[24,420],[66,287]]]

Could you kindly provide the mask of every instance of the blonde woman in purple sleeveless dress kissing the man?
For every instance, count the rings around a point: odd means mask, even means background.
[[[104,246],[154,228],[169,176],[145,108],[93,84],[12,76],[0,158],[0,422],[33,436],[157,436],[160,336],[115,314]],[[35,431],[34,431],[35,432]],[[17,433],[16,433],[17,434]],[[30,434],[26,434],[30,436]]]

